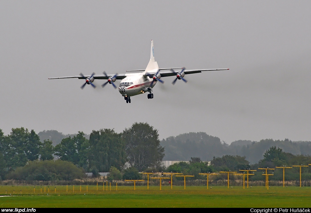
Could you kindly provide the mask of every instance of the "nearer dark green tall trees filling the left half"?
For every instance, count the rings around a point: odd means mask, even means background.
[[[51,160],[54,155],[94,174],[109,172],[111,167],[120,170],[125,163],[139,171],[156,168],[161,166],[164,157],[158,130],[147,123],[134,123],[121,133],[112,129],[93,130],[89,139],[83,132],[78,132],[54,147],[52,144],[49,139],[41,142],[34,130],[29,132],[23,127],[13,128],[10,135],[4,135],[0,130],[1,178],[24,167],[27,162]]]

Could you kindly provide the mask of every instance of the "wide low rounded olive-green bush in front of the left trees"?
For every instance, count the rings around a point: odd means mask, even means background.
[[[73,180],[85,176],[82,169],[73,163],[62,160],[29,161],[26,166],[18,167],[7,174],[7,179],[14,180]]]

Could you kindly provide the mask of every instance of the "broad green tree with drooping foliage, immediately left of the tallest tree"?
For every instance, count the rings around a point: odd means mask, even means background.
[[[111,129],[93,130],[90,134],[89,169],[108,172],[111,166],[118,169],[126,162],[122,134]]]

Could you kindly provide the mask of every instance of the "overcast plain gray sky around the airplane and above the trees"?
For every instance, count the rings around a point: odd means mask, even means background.
[[[147,122],[160,139],[311,140],[311,1],[0,1],[0,129],[64,134]],[[83,74],[229,68],[162,78],[126,104]],[[104,80],[95,80],[100,86]]]

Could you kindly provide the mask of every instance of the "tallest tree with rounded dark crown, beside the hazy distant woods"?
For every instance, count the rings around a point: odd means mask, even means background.
[[[160,166],[164,148],[160,145],[158,130],[147,123],[134,123],[123,131],[128,162],[142,171]]]

